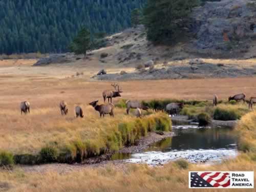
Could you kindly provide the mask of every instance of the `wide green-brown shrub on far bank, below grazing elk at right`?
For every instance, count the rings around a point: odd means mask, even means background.
[[[222,121],[231,121],[240,119],[241,116],[235,110],[216,108],[214,110],[214,119]]]

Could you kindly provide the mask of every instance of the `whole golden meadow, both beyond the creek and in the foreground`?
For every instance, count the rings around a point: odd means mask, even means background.
[[[79,68],[79,71],[84,71],[84,76],[74,78],[65,77],[75,74],[78,68],[63,67],[61,71],[59,66],[32,68],[29,64],[21,64],[19,67],[15,64],[3,64],[0,68],[0,148],[3,151],[13,154],[38,154],[42,147],[49,144],[58,148],[73,141],[77,141],[78,145],[78,141],[86,140],[93,141],[94,146],[97,146],[95,148],[100,148],[106,144],[103,141],[108,141],[108,134],[119,129],[120,123],[136,122],[134,114],[126,115],[122,108],[115,109],[115,118],[99,118],[98,112],[94,111],[89,102],[99,99],[100,103],[103,103],[102,91],[112,89],[111,82],[90,81],[90,74],[95,71],[92,72],[87,67]],[[246,77],[119,83],[123,90],[123,99],[183,99],[200,102],[208,100],[210,103],[214,94],[223,101],[230,95],[242,92],[246,94],[247,99],[255,96],[255,80],[255,77]],[[115,98],[114,103],[119,103],[120,99]],[[31,104],[31,113],[28,115],[20,115],[19,104],[24,100]],[[61,100],[68,103],[70,111],[67,116],[60,114],[58,104]],[[226,108],[226,104],[221,103],[219,107]],[[76,105],[80,105],[84,110],[83,119],[75,118]],[[192,110],[193,113],[204,112],[206,107],[185,105],[187,111]],[[0,191],[169,191],[170,188],[172,191],[187,191],[188,170],[255,170],[255,112],[244,116],[248,112],[248,105],[242,103],[228,103],[228,108],[239,110],[241,115],[241,122],[237,127],[238,134],[241,135],[239,147],[246,153],[241,152],[237,159],[208,167],[193,164],[183,166],[176,162],[168,163],[164,167],[85,166],[65,174],[55,170],[30,173],[23,167],[14,166],[12,170],[1,170]],[[152,114],[148,118],[162,115],[164,116],[162,113]]]

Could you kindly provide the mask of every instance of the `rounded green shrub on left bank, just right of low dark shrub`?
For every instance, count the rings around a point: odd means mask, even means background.
[[[54,163],[57,161],[58,158],[57,149],[51,146],[41,148],[39,154],[41,163]]]

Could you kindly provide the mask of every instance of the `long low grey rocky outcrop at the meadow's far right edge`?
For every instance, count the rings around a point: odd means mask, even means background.
[[[193,65],[172,65],[165,68],[136,70],[127,74],[106,74],[93,76],[96,80],[145,80],[145,79],[179,79],[179,78],[223,78],[244,77],[256,74],[256,66],[241,68],[235,65],[212,63],[193,63]]]

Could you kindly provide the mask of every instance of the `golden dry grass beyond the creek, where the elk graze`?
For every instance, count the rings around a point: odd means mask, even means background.
[[[57,73],[59,69],[41,68],[42,71],[50,70],[52,73]],[[96,130],[105,129],[105,121],[106,124],[111,124],[123,117],[129,118],[124,116],[124,110],[116,110],[114,119],[107,117],[105,120],[98,120],[98,113],[88,105],[95,99],[102,103],[102,91],[112,89],[111,82],[90,82],[87,77],[41,78],[41,74],[33,70],[33,67],[28,68],[28,71],[24,72],[25,75],[20,77],[15,74],[14,69],[11,77],[0,78],[0,147],[3,150],[15,153],[36,152],[38,148],[51,141],[68,142],[81,136],[96,137]],[[120,85],[123,89],[122,98],[126,99],[211,100],[213,94],[217,94],[220,99],[242,92],[247,97],[256,95],[255,80],[254,77],[147,80],[125,81],[120,82]],[[19,103],[24,100],[31,103],[31,114],[21,116]],[[60,115],[60,100],[68,103],[68,116]],[[118,98],[115,98],[114,102],[117,101]],[[84,109],[86,118],[83,120],[74,119],[74,107],[77,104]]]

